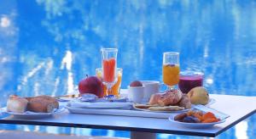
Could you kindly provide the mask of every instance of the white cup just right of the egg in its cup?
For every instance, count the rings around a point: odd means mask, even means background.
[[[160,92],[160,81],[141,81],[144,88],[143,101],[148,102],[151,95]]]

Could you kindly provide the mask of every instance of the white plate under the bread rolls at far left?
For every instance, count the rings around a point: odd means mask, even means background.
[[[65,110],[65,108],[62,107],[62,108],[55,109],[55,111],[52,113],[35,113],[35,112],[31,112],[31,111],[26,111],[25,113],[15,113],[15,112],[9,112],[6,110],[6,108],[3,108],[2,112],[6,113],[6,114],[11,114],[15,118],[19,118],[19,119],[41,119],[41,118],[52,116],[54,114],[61,113],[64,110]]]

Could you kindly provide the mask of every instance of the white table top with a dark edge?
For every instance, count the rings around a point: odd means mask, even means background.
[[[20,125],[55,125],[191,136],[218,136],[221,132],[226,131],[241,120],[245,120],[256,112],[256,97],[217,94],[212,94],[210,97],[216,100],[216,103],[213,103],[211,107],[226,114],[230,114],[230,117],[224,123],[215,125],[208,129],[189,129],[183,126],[173,125],[167,119],[96,114],[70,114],[68,111],[40,120],[19,120],[9,116],[1,119],[0,123]]]

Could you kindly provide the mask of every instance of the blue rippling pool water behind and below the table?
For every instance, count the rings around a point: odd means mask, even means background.
[[[71,93],[100,67],[101,47],[118,47],[130,81],[161,81],[162,53],[180,52],[181,69],[200,69],[209,92],[255,96],[255,1],[1,0],[1,107],[10,94]],[[153,121],[154,122],[154,121]],[[219,138],[256,136],[253,115]],[[0,125],[1,129],[129,136],[127,131]],[[160,134],[159,138],[174,136]]]

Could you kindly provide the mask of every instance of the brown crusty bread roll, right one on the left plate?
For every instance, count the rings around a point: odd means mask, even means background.
[[[51,113],[55,108],[59,108],[59,103],[49,96],[32,97],[27,106],[29,111],[38,113]]]

